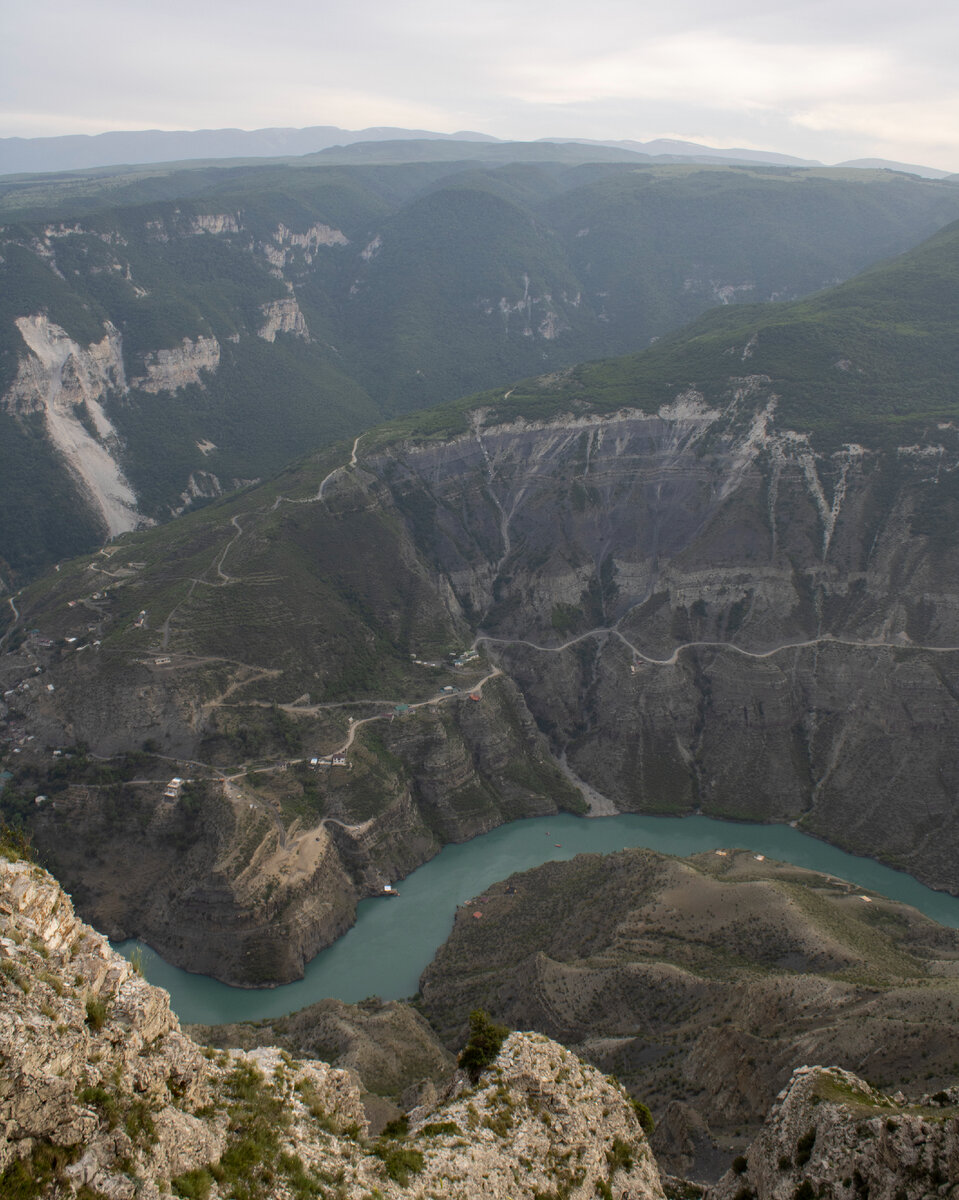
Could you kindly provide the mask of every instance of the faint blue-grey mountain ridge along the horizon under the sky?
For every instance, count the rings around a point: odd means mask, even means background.
[[[631,138],[616,140],[576,138],[563,134],[523,143],[472,130],[438,133],[433,130],[406,130],[396,126],[343,130],[336,125],[311,125],[304,128],[269,127],[262,130],[118,130],[107,133],[74,133],[46,138],[0,138],[0,175],[84,170],[97,167],[191,160],[299,157],[318,154],[332,146],[400,140],[457,142],[474,145],[491,143],[499,145],[577,144],[625,151],[642,158],[691,158],[694,162],[771,163],[789,167],[822,166],[815,158],[797,158],[795,155],[773,150],[717,149],[677,138],[654,138],[651,142],[639,142]],[[948,172],[937,170],[934,167],[891,162],[885,158],[862,158],[837,166],[905,170],[925,179],[942,179],[948,174]]]

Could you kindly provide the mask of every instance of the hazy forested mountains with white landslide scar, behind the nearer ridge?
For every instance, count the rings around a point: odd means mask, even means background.
[[[384,418],[815,292],[959,216],[953,184],[886,172],[420,145],[452,157],[0,187],[2,583]]]

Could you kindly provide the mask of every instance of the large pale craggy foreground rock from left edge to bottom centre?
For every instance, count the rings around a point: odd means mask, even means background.
[[[50,876],[0,859],[4,1195],[663,1196],[622,1091],[544,1037],[511,1034],[478,1085],[457,1075],[410,1117],[371,1144],[348,1072],[200,1051]]]

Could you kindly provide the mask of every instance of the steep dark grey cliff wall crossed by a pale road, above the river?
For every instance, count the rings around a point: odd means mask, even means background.
[[[553,752],[618,809],[796,820],[954,888],[955,430],[816,452],[768,382],[731,391],[480,418],[370,468],[431,526]]]

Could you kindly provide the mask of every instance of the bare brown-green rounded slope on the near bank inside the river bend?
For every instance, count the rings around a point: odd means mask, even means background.
[[[513,876],[460,910],[421,991],[448,1044],[484,1007],[616,1072],[658,1116],[682,1102],[724,1135],[803,1063],[934,1091],[959,1062],[958,934],[744,851]]]

